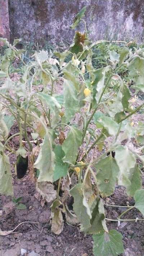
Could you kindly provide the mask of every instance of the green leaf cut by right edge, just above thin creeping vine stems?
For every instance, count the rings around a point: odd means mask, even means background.
[[[144,189],[136,190],[134,194],[135,208],[144,215]]]

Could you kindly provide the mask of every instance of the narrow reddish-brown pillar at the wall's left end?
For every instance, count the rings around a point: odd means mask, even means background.
[[[0,0],[0,37],[9,41],[9,9],[8,0]],[[2,44],[0,43],[0,46]]]

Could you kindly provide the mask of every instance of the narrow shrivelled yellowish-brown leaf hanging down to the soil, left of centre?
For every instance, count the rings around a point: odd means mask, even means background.
[[[63,204],[56,199],[51,205],[51,231],[59,235],[63,231],[63,215],[59,206]]]

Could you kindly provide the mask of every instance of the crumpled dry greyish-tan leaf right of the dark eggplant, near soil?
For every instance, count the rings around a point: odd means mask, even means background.
[[[37,182],[36,190],[39,192],[46,202],[51,202],[57,197],[57,190],[54,189],[54,185],[48,182]]]

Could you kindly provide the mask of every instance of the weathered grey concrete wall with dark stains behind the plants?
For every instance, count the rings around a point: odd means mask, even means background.
[[[103,39],[110,28],[115,38],[143,40],[144,0],[9,0],[10,40],[71,42],[74,31],[69,26],[84,5],[92,39]]]

